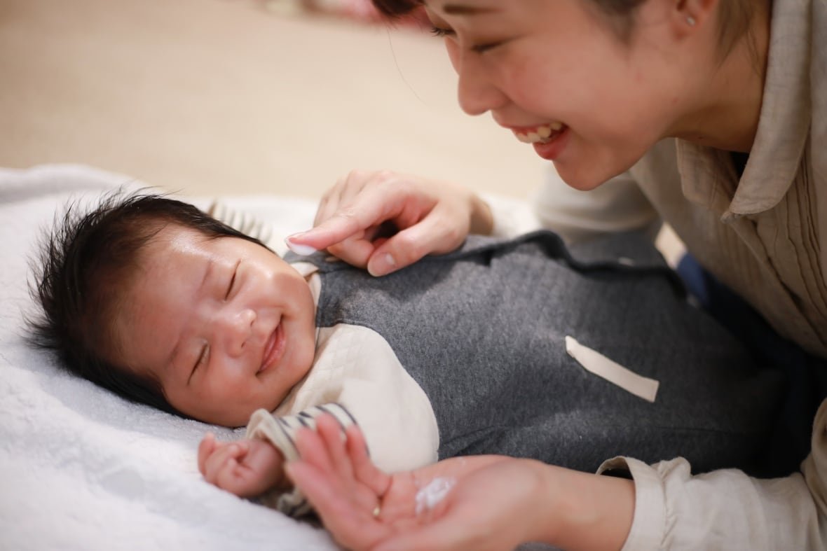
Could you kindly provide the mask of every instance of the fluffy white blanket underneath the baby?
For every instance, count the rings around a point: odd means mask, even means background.
[[[337,549],[324,530],[203,481],[203,433],[237,431],[131,404],[26,345],[38,235],[69,197],[121,185],[141,183],[73,165],[0,169],[0,549]],[[222,200],[283,233],[315,210],[291,197]]]

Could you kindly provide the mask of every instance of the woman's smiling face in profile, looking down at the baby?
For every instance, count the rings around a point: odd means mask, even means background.
[[[462,109],[490,111],[586,190],[675,131],[686,67],[671,5],[644,2],[629,40],[591,0],[428,0],[426,10],[445,36]]]

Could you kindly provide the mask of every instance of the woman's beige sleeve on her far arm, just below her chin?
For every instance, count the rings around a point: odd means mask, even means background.
[[[590,191],[571,188],[553,168],[533,197],[539,224],[569,243],[604,233],[649,230],[656,235],[660,217],[628,171]]]

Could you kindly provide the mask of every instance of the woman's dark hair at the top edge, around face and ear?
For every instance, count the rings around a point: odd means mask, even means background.
[[[646,0],[587,0],[609,16],[617,35],[628,41],[638,7]],[[423,6],[423,0],[372,0],[376,9],[398,18]],[[739,38],[749,32],[758,9],[769,9],[771,0],[721,0],[718,14],[718,45],[722,57],[729,54]]]

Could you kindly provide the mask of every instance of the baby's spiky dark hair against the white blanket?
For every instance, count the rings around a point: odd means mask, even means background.
[[[114,315],[136,276],[141,251],[170,224],[208,239],[239,237],[265,246],[189,203],[151,192],[111,192],[90,211],[70,202],[41,241],[30,283],[41,312],[28,325],[31,344],[54,351],[69,372],[128,400],[181,416],[159,381],[108,359],[117,346]]]

